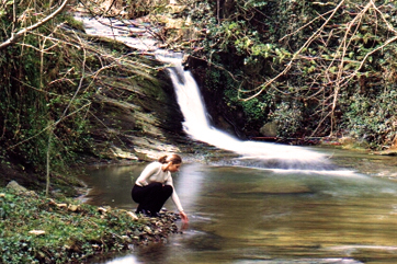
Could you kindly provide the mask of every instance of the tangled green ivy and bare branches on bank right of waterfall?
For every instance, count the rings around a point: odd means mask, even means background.
[[[381,125],[389,124],[389,117],[368,118],[372,114],[363,107],[350,105],[358,96],[374,100],[358,92],[363,82],[371,83],[377,100],[385,96],[385,88],[396,91],[397,9],[388,1],[365,3],[373,4],[370,9],[361,1],[338,3],[236,0],[218,7],[200,1],[212,15],[192,9],[203,39],[190,53],[225,69],[217,73],[222,81],[216,85],[205,83],[224,91],[231,110],[241,106],[250,127],[259,128],[272,115],[283,136],[338,135],[348,128],[365,134],[374,145],[389,145],[395,130]],[[350,120],[361,123],[362,130]]]

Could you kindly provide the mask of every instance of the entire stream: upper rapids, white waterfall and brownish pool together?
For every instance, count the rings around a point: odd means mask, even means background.
[[[90,34],[110,34],[83,22]],[[155,46],[143,48],[171,64],[186,134],[239,157],[185,162],[174,173],[186,230],[92,263],[397,263],[395,157],[240,141],[211,126],[181,56]],[[131,188],[145,165],[91,169],[82,177],[91,188],[87,203],[135,210]],[[165,206],[175,209],[171,200]]]

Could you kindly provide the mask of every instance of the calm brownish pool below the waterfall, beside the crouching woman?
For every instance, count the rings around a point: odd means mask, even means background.
[[[135,208],[129,192],[143,165],[113,169],[92,173],[99,195],[91,203]],[[352,171],[197,163],[184,164],[173,179],[189,230],[138,246],[120,263],[397,262],[394,182]],[[166,207],[174,210],[171,200]]]

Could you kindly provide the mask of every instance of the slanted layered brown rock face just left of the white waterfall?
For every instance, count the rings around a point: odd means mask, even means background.
[[[158,72],[157,78],[134,83],[131,79],[110,77],[107,82],[116,85],[95,95],[90,133],[98,156],[150,160],[160,152],[180,151],[177,141],[184,135],[183,115],[171,80],[165,72]]]

